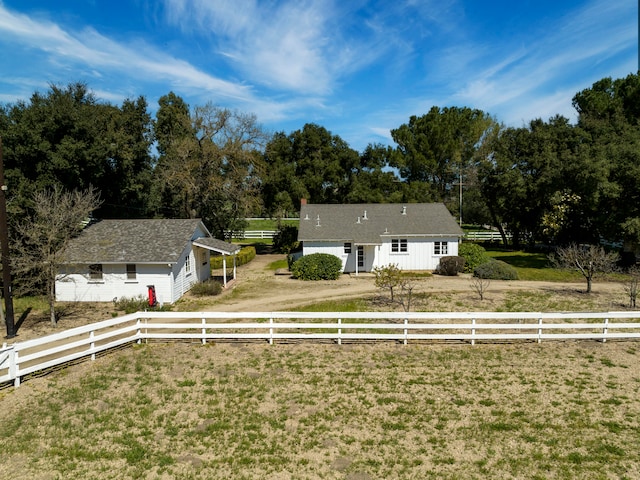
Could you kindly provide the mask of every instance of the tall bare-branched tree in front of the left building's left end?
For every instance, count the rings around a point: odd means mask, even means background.
[[[33,289],[46,289],[53,325],[57,322],[56,277],[65,263],[65,247],[82,231],[83,221],[100,206],[99,197],[93,188],[65,192],[55,187],[36,192],[32,214],[17,226],[16,272]]]

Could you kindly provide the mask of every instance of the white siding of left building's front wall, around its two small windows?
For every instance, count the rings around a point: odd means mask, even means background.
[[[57,301],[110,302],[114,298],[147,297],[147,286],[154,285],[158,302],[172,302],[171,269],[167,264],[138,264],[135,280],[127,279],[126,264],[103,265],[102,280],[89,279],[88,265],[70,267],[65,272],[56,280]]]

